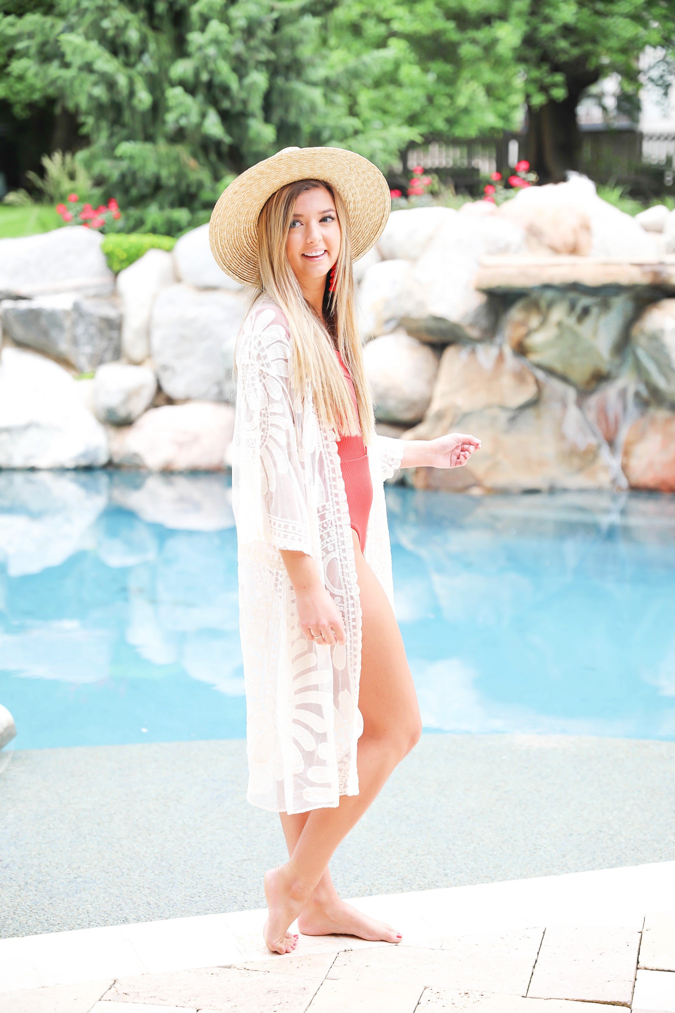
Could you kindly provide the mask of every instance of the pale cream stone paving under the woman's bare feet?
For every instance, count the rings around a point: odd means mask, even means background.
[[[0,940],[2,1013],[675,1013],[675,862],[363,898],[400,946],[263,911]]]

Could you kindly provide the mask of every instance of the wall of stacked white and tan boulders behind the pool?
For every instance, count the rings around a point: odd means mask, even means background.
[[[228,466],[247,294],[201,226],[116,279],[101,237],[0,240],[0,468]],[[418,488],[675,491],[675,215],[582,177],[394,212],[355,264],[379,426],[473,433]],[[85,378],[82,375],[85,374]]]

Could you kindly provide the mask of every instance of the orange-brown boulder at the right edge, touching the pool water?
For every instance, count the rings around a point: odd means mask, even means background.
[[[638,418],[623,443],[621,467],[634,489],[675,492],[675,413],[650,411]]]

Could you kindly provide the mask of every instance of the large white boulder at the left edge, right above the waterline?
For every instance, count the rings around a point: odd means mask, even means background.
[[[77,381],[20,348],[0,355],[0,468],[91,468],[108,460],[105,430]]]

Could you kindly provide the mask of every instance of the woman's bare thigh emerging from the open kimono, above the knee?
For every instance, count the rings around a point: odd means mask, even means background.
[[[353,531],[352,536],[361,603],[358,708],[364,733],[381,737],[402,724],[419,721],[419,707],[394,610]]]

